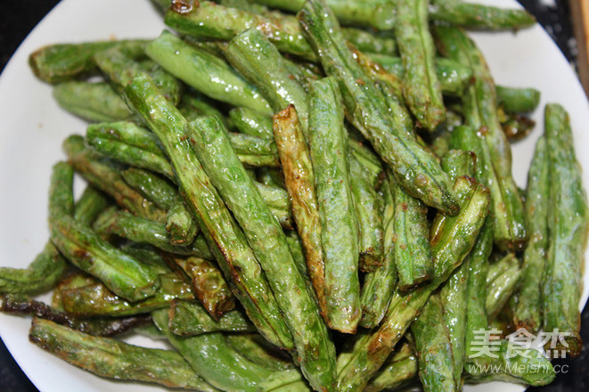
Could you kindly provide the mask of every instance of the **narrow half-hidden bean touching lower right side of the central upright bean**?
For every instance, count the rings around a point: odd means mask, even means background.
[[[390,298],[393,296],[397,284],[397,270],[393,248],[395,247],[395,198],[391,184],[394,182],[393,175],[388,172],[380,187],[382,197],[382,222],[384,225],[383,247],[384,258],[382,264],[373,272],[364,275],[364,286],[360,296],[362,304],[362,320],[360,325],[364,328],[374,328],[380,324],[387,308]]]

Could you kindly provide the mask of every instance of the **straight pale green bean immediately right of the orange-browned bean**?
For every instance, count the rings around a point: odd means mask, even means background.
[[[358,224],[348,169],[348,133],[338,85],[314,82],[309,94],[308,143],[321,223],[327,324],[355,333],[360,322]]]

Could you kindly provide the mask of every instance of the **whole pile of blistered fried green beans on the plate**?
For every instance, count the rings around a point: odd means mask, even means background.
[[[495,86],[465,32],[524,29],[527,12],[153,3],[178,34],[30,55],[90,123],[53,166],[50,240],[0,268],[0,310],[32,315],[33,343],[101,377],[206,392],[550,383],[539,352],[510,355],[514,327],[579,354],[589,208],[569,116],[546,105],[519,190],[510,142],[540,93]],[[496,355],[477,355],[496,329]]]

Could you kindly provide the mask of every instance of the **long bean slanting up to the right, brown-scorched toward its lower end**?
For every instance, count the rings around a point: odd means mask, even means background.
[[[354,347],[338,358],[338,388],[360,391],[390,355],[407,327],[419,314],[429,295],[461,265],[472,248],[487,216],[489,195],[485,187],[468,177],[459,177],[454,192],[461,200],[457,216],[438,218],[430,235],[434,257],[432,282],[407,293],[395,290],[380,327],[358,335]]]

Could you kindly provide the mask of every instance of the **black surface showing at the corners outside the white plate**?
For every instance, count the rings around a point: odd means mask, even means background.
[[[12,53],[20,42],[27,37],[39,20],[53,8],[56,0],[0,0],[0,71],[10,60]],[[519,0],[529,12],[532,12],[552,39],[560,46],[571,65],[576,66],[577,45],[573,37],[570,22],[569,4],[557,0],[556,6],[546,5],[551,2],[542,0]],[[6,110],[6,108],[2,108]],[[23,331],[24,333],[24,331]],[[585,341],[583,352],[575,359],[553,361],[560,364],[562,372],[556,381],[542,388],[528,388],[529,392],[569,392],[589,391],[589,307],[585,306],[582,317],[581,336]],[[64,363],[64,366],[69,366]],[[565,372],[566,371],[566,372]],[[67,390],[67,388],[64,388]],[[10,353],[0,340],[0,391],[34,392],[37,391],[20,371]]]

